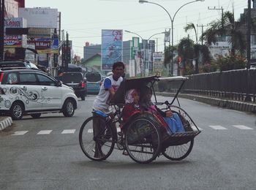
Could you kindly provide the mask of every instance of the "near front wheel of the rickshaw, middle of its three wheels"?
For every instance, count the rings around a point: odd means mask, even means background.
[[[130,158],[140,164],[156,159],[161,148],[160,132],[153,122],[138,118],[127,126],[125,148]]]

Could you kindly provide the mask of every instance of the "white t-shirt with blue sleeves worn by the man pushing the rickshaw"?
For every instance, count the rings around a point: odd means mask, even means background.
[[[111,85],[108,86],[107,88],[106,86],[104,86],[105,80],[107,80],[108,83],[111,83]],[[117,88],[120,86],[121,82],[123,81],[123,77],[119,77],[118,80],[114,80],[113,75],[111,75],[109,77],[105,77],[105,80],[99,88],[99,94],[96,96],[96,99],[94,100],[94,104],[92,108],[94,110],[101,110],[104,113],[110,113],[111,110],[108,104],[110,100],[110,91],[108,89],[113,87],[114,91],[116,92]]]

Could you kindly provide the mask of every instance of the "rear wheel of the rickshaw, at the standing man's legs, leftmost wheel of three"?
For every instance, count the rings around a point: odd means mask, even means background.
[[[80,128],[80,148],[91,160],[105,160],[113,151],[115,134],[113,127],[106,125],[105,118],[92,116],[86,119]]]

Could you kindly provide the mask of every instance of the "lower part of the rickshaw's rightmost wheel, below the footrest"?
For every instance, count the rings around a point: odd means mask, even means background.
[[[189,156],[189,153],[192,151],[193,145],[194,139],[190,140],[186,144],[171,145],[166,148],[164,152],[162,152],[162,155],[164,155],[167,159],[179,161]]]

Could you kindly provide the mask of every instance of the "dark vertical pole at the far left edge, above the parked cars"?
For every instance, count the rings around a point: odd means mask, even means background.
[[[4,61],[4,0],[0,0],[0,61]]]

